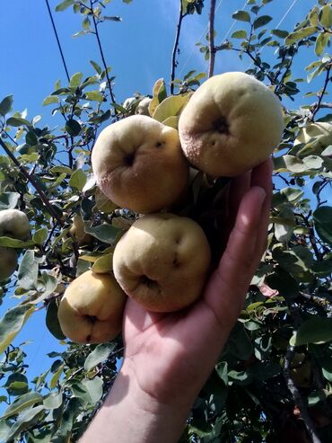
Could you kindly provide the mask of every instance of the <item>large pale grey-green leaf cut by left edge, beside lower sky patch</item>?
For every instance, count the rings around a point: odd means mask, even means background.
[[[0,320],[0,354],[11,344],[34,310],[31,305],[19,305],[4,314]]]

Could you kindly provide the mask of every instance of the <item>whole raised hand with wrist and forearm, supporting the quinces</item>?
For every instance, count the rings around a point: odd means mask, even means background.
[[[197,303],[158,314],[128,299],[123,365],[82,443],[179,439],[188,411],[240,315],[264,252],[271,175],[272,161],[267,160],[232,180],[224,226],[228,242]]]

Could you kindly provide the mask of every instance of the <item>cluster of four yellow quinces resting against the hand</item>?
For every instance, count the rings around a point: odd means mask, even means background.
[[[112,274],[89,270],[66,289],[58,310],[65,335],[113,339],[127,296],[163,313],[194,303],[209,273],[210,246],[196,221],[168,212],[185,195],[189,167],[212,178],[245,173],[272,153],[283,129],[278,98],[243,73],[202,84],[179,115],[179,131],[147,115],[103,129],[92,150],[97,184],[140,216],[115,247]]]

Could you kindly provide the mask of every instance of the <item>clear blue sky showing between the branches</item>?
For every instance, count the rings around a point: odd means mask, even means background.
[[[76,39],[72,35],[81,30],[81,16],[69,8],[65,13],[55,13],[60,0],[50,0],[59,39],[62,43],[70,75],[81,71],[84,76],[94,74],[89,60],[100,64],[100,54],[92,35]],[[217,0],[215,29],[216,43],[219,44],[230,31],[245,29],[243,22],[232,28],[232,13],[243,9],[244,0]],[[274,17],[272,27],[282,21],[279,28],[293,29],[295,22],[301,22],[315,0],[274,0],[264,8],[264,14]],[[189,70],[207,70],[207,64],[195,44],[205,42],[209,1],[205,0],[202,15],[189,16],[183,22],[179,49],[177,75],[183,76]],[[173,47],[179,0],[133,0],[124,4],[113,0],[107,8],[108,15],[121,16],[122,22],[105,22],[100,25],[100,36],[107,63],[116,75],[114,92],[118,102],[123,102],[135,92],[151,93],[158,78],[170,78],[170,58]],[[270,26],[270,25],[269,25]],[[5,2],[0,15],[0,100],[13,93],[14,108],[28,109],[29,118],[42,114],[45,123],[54,126],[50,118],[51,107],[42,107],[43,99],[54,90],[57,79],[66,85],[66,75],[57,49],[54,32],[48,17],[44,0],[15,0]],[[273,54],[274,49],[264,49]],[[298,72],[311,61],[306,51],[298,58]],[[225,71],[245,70],[249,59],[240,62],[237,53],[223,51],[216,58],[215,74]],[[296,72],[294,72],[296,77]],[[312,85],[310,85],[310,88]],[[309,88],[306,88],[307,90]],[[294,105],[296,107],[296,105]],[[0,316],[5,308],[15,305],[10,301],[0,306]],[[45,326],[45,313],[40,311],[28,321],[16,342],[31,340],[25,347],[31,368],[29,377],[49,367],[44,358],[50,350],[58,347]]]

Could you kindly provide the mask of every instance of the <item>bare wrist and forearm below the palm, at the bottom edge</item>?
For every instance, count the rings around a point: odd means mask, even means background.
[[[81,443],[175,443],[185,428],[191,404],[164,402],[146,392],[125,360],[100,412]],[[127,417],[127,419],[126,419]]]

